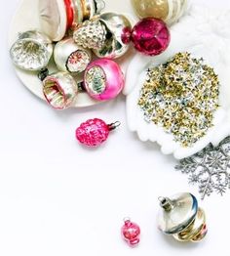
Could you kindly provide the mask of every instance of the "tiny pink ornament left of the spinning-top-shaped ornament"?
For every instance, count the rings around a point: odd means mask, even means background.
[[[131,245],[137,245],[139,243],[140,229],[139,226],[130,219],[125,220],[125,224],[122,227],[122,235],[124,239]]]

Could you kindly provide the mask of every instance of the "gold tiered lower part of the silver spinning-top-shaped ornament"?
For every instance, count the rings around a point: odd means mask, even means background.
[[[179,241],[201,240],[207,234],[204,233],[204,226],[206,226],[206,215],[204,210],[199,208],[194,221],[181,233],[175,234],[173,237]]]

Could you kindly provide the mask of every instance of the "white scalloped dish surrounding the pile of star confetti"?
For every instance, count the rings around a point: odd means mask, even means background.
[[[192,7],[189,14],[173,25],[172,42],[169,49],[158,57],[144,57],[137,54],[127,71],[126,88],[128,124],[143,142],[151,141],[161,146],[165,154],[175,158],[188,157],[207,145],[218,143],[230,134],[230,11],[214,12],[199,6]],[[175,142],[172,134],[153,122],[146,122],[137,102],[143,86],[146,70],[150,66],[165,64],[178,52],[189,52],[203,58],[213,67],[220,82],[218,109],[214,112],[207,134],[191,147]]]

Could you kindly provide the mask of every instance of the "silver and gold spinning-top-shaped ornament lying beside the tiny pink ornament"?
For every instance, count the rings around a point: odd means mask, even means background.
[[[196,197],[188,192],[159,197],[159,229],[178,241],[201,241],[208,233],[206,215]]]

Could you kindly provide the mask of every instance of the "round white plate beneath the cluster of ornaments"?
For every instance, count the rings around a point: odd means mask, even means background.
[[[123,0],[107,0],[105,1],[106,8],[104,12],[117,12],[122,13],[132,20],[134,18],[134,11],[131,6],[130,0],[126,1],[124,5]],[[13,19],[10,34],[9,34],[9,47],[17,40],[18,34],[20,32],[31,30],[31,29],[38,29],[39,30],[39,19],[38,19],[38,0],[22,0],[19,9]],[[127,64],[129,64],[130,60],[134,55],[134,51],[132,51],[132,47],[129,53],[127,53],[123,58],[118,60],[117,62],[121,64],[124,73],[126,72]],[[16,73],[19,76],[19,80],[22,84],[27,87],[33,94],[37,97],[44,99],[42,93],[42,83],[37,77],[37,73],[35,72],[28,72],[15,67]],[[51,71],[56,71],[55,64],[51,63],[49,65],[49,69]],[[82,79],[79,77],[79,79]],[[86,93],[80,93],[77,97],[76,104],[74,107],[90,107],[98,104],[98,102],[94,101],[90,98]]]

